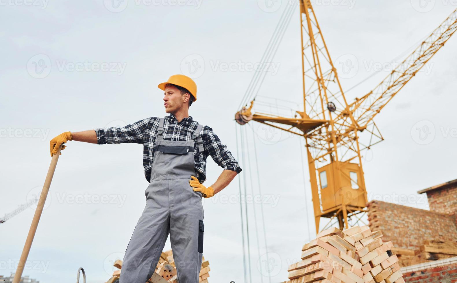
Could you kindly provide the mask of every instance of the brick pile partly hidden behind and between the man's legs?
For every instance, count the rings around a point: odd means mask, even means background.
[[[122,261],[117,260],[113,264],[114,267],[118,268],[112,274],[105,283],[117,283],[122,271]],[[200,270],[199,283],[208,283],[209,277],[209,262],[202,257],[202,268]],[[173,252],[171,250],[162,252],[155,267],[155,273],[146,283],[178,283],[178,276],[175,268],[175,261],[173,259]]]

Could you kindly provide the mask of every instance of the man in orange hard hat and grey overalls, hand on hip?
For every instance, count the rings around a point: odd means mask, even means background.
[[[173,75],[158,87],[165,91],[169,115],[124,127],[64,132],[51,140],[51,156],[67,141],[142,143],[144,175],[149,182],[144,192],[146,207],[127,245],[119,283],[145,283],[155,271],[168,234],[179,282],[198,283],[204,231],[202,197],[220,192],[241,168],[213,129],[189,116],[189,107],[197,101],[197,85],[191,78]],[[224,170],[215,183],[205,187],[208,156]]]

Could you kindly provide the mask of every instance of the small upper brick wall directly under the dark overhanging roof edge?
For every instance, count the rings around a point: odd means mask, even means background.
[[[457,212],[457,186],[447,186],[427,192],[431,211],[441,213]]]

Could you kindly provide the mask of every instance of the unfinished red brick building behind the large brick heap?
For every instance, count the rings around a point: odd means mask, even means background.
[[[457,282],[457,179],[418,191],[430,210],[373,200],[367,204],[372,231],[392,241],[406,282]],[[431,243],[432,242],[432,243]],[[437,251],[426,245],[438,245]]]

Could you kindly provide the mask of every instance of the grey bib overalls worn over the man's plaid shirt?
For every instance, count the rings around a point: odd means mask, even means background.
[[[203,252],[202,194],[189,184],[195,172],[194,145],[203,151],[202,125],[186,142],[163,139],[159,120],[146,207],[133,230],[122,262],[119,283],[145,283],[155,271],[170,234],[180,283],[198,283]],[[197,141],[197,142],[196,142]]]

